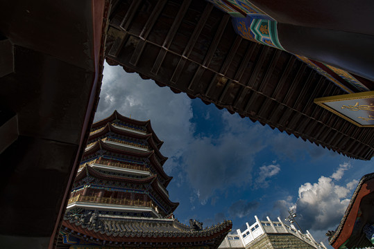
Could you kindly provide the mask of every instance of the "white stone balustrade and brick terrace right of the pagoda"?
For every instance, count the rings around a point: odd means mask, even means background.
[[[289,227],[278,217],[278,221],[260,221],[255,216],[256,222],[252,225],[246,223],[247,229],[237,234],[228,234],[219,249],[327,249],[323,243],[317,243],[308,231],[303,234],[296,230],[294,225]]]

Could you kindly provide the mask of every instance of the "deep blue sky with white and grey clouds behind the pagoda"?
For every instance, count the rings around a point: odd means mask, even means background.
[[[173,176],[168,190],[180,205],[174,213],[212,225],[230,219],[233,231],[293,208],[298,223],[328,245],[359,179],[373,160],[352,160],[278,129],[231,115],[214,104],[175,94],[119,66],[105,64],[96,120],[117,109],[124,116],[151,120],[164,141],[164,164]]]

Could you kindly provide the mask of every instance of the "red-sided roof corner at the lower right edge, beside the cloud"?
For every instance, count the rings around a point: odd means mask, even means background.
[[[374,173],[362,176],[345,214],[334,231],[328,231],[335,249],[374,248]]]

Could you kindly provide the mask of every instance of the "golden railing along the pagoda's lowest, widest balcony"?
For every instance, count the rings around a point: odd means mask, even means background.
[[[113,204],[113,205],[130,205],[130,206],[139,206],[139,207],[148,207],[155,209],[156,206],[152,201],[142,201],[142,200],[129,200],[121,198],[112,198],[112,197],[98,197],[98,196],[83,196],[78,194],[69,199],[68,205],[76,202],[90,202],[90,203],[101,203],[101,204]],[[157,210],[157,209],[156,209]]]

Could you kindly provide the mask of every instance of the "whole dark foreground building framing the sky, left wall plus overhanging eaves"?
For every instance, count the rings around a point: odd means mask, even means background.
[[[2,246],[53,248],[104,59],[175,93],[370,160],[373,8],[373,1],[324,0],[1,1]]]

